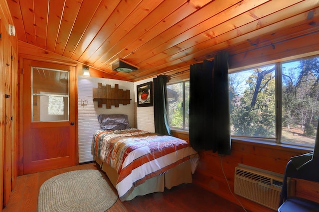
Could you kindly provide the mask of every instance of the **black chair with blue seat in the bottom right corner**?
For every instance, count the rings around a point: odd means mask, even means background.
[[[292,157],[287,163],[278,209],[278,212],[319,212],[319,203],[288,196],[288,177],[319,182],[319,129],[317,130],[314,151]]]

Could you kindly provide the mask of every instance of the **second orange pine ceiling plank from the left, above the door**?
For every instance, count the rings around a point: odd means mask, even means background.
[[[19,2],[23,17],[26,40],[28,43],[36,46],[33,0],[21,0]]]

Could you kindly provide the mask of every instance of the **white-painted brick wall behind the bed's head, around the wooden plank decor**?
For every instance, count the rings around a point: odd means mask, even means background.
[[[110,84],[112,88],[115,84],[119,84],[119,89],[130,90],[131,103],[128,105],[119,104],[119,107],[117,108],[112,105],[111,109],[106,109],[106,105],[103,104],[103,107],[99,108],[97,102],[93,102],[92,95],[92,88],[98,87],[98,82],[101,82],[103,86]],[[136,102],[134,92],[136,91],[134,91],[133,82],[97,77],[85,77],[82,75],[78,76],[79,163],[93,161],[93,134],[96,130],[100,129],[100,124],[96,118],[97,115],[126,114],[128,115],[130,127],[136,126],[134,123],[134,109]],[[83,100],[87,101],[87,105],[82,105]]]

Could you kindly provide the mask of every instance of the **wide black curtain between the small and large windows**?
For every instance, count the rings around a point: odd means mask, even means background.
[[[228,53],[190,66],[189,142],[196,150],[230,154]]]

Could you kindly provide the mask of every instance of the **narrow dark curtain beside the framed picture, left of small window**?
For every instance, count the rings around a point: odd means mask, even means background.
[[[171,135],[167,116],[167,76],[159,75],[153,78],[154,82],[154,124],[155,133]]]

